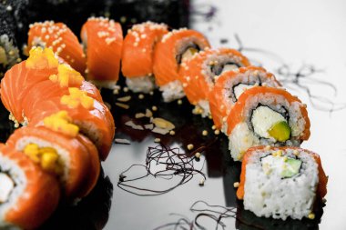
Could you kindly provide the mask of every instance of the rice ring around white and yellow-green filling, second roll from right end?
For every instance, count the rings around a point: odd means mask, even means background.
[[[250,130],[250,116],[251,110],[256,108],[259,104],[270,105],[275,111],[279,111],[281,106],[288,109],[290,120],[289,125],[291,129],[290,139],[284,143],[276,143],[274,138],[260,138]],[[246,117],[243,122],[240,122],[229,134],[229,150],[235,161],[241,161],[242,155],[250,146],[256,145],[274,145],[274,146],[300,146],[300,135],[305,130],[305,119],[301,115],[299,102],[290,103],[281,95],[272,95],[270,93],[260,94],[249,98],[242,113]]]

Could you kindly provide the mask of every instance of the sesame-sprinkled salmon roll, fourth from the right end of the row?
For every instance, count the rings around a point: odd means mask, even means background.
[[[248,58],[235,49],[209,49],[199,52],[181,64],[179,80],[188,101],[196,105],[197,112],[198,108],[201,109],[199,113],[205,117],[210,115],[209,92],[219,75],[248,65]]]

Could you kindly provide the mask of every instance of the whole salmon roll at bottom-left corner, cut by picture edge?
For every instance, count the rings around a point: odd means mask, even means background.
[[[1,229],[35,229],[56,210],[56,176],[5,145],[0,147],[0,184]]]

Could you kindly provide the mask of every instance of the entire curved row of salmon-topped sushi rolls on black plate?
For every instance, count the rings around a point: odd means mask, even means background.
[[[17,127],[0,147],[1,227],[36,228],[60,202],[90,193],[115,135],[97,86],[114,89],[120,71],[131,91],[158,88],[165,102],[186,96],[195,114],[212,117],[234,161],[242,161],[235,186],[245,209],[283,220],[315,217],[328,177],[319,155],[300,148],[310,136],[306,105],[273,74],[187,28],[146,22],[123,38],[117,22],[90,17],[80,37],[82,45],[62,23],[30,25],[28,58],[1,81]],[[3,59],[15,54],[9,50],[0,50]]]

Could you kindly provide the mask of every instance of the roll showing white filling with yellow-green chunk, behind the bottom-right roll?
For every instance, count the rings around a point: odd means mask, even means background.
[[[235,161],[241,161],[251,146],[300,146],[310,137],[306,105],[284,89],[254,86],[231,109],[227,135]]]

